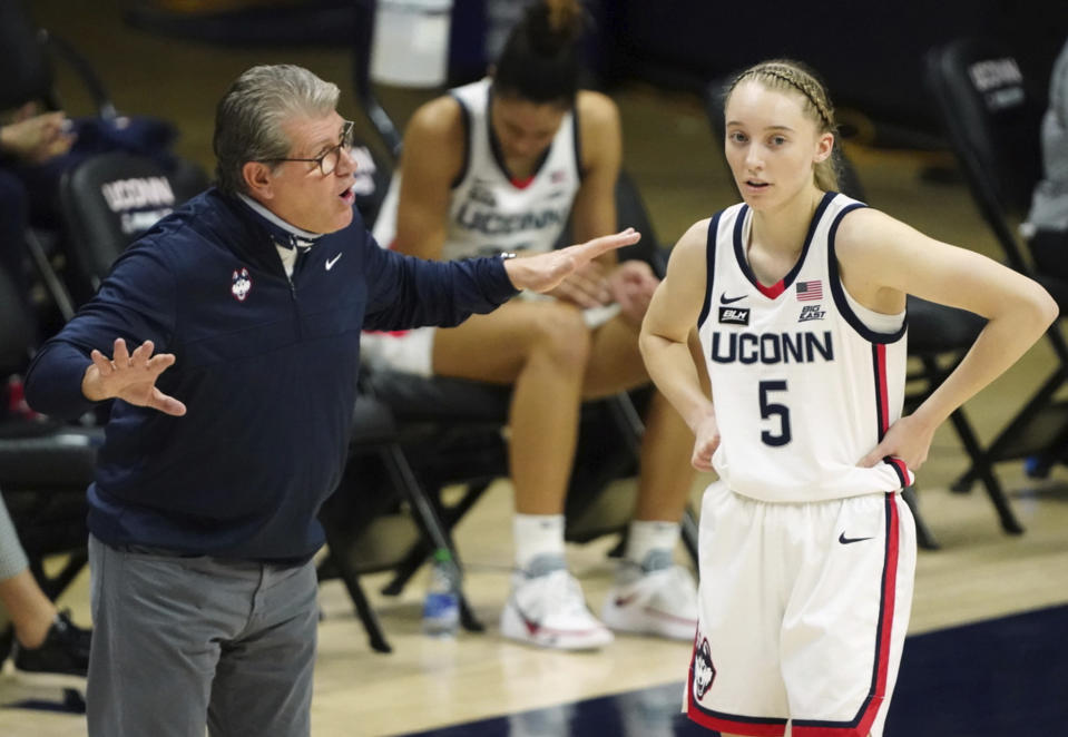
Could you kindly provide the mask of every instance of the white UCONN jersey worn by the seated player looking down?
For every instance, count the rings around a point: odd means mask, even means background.
[[[467,156],[449,203],[442,259],[489,256],[502,250],[551,250],[578,191],[579,151],[575,115],[564,116],[545,159],[525,183],[515,183],[490,136],[490,80],[452,90],[468,130]],[[393,177],[374,237],[383,246],[396,233],[400,176]]]

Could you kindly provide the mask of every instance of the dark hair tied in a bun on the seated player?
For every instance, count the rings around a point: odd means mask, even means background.
[[[571,108],[579,86],[579,41],[585,26],[578,0],[537,0],[508,35],[493,72],[493,91]]]

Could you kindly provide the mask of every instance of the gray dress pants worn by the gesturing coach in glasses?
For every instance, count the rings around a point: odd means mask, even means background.
[[[89,539],[90,737],[306,737],[314,564],[182,557]]]

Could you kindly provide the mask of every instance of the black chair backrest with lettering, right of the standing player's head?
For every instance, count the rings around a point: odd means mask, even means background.
[[[1021,216],[1041,178],[1042,97],[999,41],[961,38],[928,51],[925,82],[983,217],[1011,265],[1025,259],[1007,217]]]

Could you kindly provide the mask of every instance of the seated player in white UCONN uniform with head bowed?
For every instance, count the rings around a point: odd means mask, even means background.
[[[569,213],[575,237],[615,229],[619,117],[606,96],[578,90],[581,30],[576,0],[539,0],[492,78],[417,110],[374,230],[380,244],[447,261],[521,256],[552,248]],[[513,299],[457,328],[364,341],[369,362],[384,356],[394,368],[513,386],[517,573],[501,616],[506,637],[561,649],[613,639],[566,568],[562,511],[581,402],[649,381],[637,338],[657,284],[644,262],[608,258],[549,299]],[[602,619],[689,640],[696,584],[673,551],[693,483],[693,435],[658,394],[645,421],[636,519]]]

